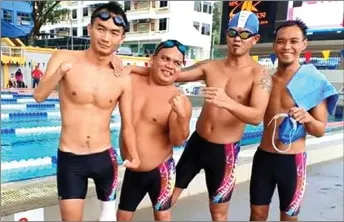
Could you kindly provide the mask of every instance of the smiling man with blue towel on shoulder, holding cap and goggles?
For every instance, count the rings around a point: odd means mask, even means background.
[[[307,72],[305,73],[310,75],[310,78],[301,81],[302,73],[298,73],[301,70],[299,59],[301,52],[307,47],[306,29],[302,21],[286,21],[275,31],[273,49],[278,57],[278,67],[272,77],[273,87],[264,116],[264,132],[253,158],[250,181],[250,220],[253,221],[267,220],[276,185],[280,200],[280,219],[297,220],[306,185],[306,134],[303,132],[316,137],[321,137],[325,133],[327,112],[330,110],[327,105],[328,97],[320,95],[319,98],[324,99],[320,99],[310,110],[306,111],[303,108],[313,100],[311,98],[313,93],[307,93],[306,88],[311,87],[311,90],[315,90],[314,94],[321,94],[322,90],[316,87],[322,87],[322,83],[327,84],[326,77],[319,75],[319,79],[316,80],[315,73]],[[292,90],[290,84],[295,84],[296,90]],[[331,89],[329,85],[324,86]],[[310,99],[306,99],[303,104],[296,104],[295,92],[299,92],[303,99],[307,96],[305,94],[308,94]],[[334,96],[336,94],[334,91],[324,92]],[[284,114],[283,121],[276,119],[280,114]],[[287,120],[290,117],[297,122],[298,131],[295,134],[291,134],[293,127],[287,128]],[[288,138],[283,136],[285,130]],[[294,140],[293,137],[298,139]]]

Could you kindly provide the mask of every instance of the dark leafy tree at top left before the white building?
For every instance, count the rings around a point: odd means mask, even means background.
[[[31,1],[32,19],[34,27],[29,34],[29,44],[33,45],[42,25],[46,23],[55,24],[60,21],[61,15],[69,13],[68,9],[62,9],[61,1]]]

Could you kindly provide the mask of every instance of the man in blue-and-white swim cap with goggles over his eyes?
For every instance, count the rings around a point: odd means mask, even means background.
[[[255,14],[242,11],[228,22],[228,56],[183,69],[177,81],[204,80],[205,103],[196,132],[188,141],[176,167],[173,203],[204,169],[212,220],[225,221],[235,186],[235,167],[246,124],[262,122],[268,104],[271,77],[253,61],[250,49],[259,40]],[[147,69],[133,72],[147,75]]]

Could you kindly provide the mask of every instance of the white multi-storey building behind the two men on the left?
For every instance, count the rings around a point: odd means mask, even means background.
[[[62,36],[87,36],[87,25],[98,4],[107,1],[70,1],[63,7],[71,10],[70,15],[53,25],[41,28],[43,33]],[[133,54],[151,54],[156,45],[167,39],[176,39],[188,46],[188,58],[206,59],[210,56],[212,35],[211,1],[118,1],[126,10],[130,31],[123,47]]]

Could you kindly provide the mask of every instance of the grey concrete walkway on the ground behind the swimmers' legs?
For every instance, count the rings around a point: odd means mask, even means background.
[[[230,221],[248,221],[249,183],[236,186],[230,206]],[[152,209],[137,211],[135,221],[153,220]],[[182,198],[173,209],[174,221],[211,221],[205,193]],[[279,220],[278,193],[274,194],[270,217]],[[343,221],[343,159],[336,159],[308,168],[304,203],[300,221]]]

